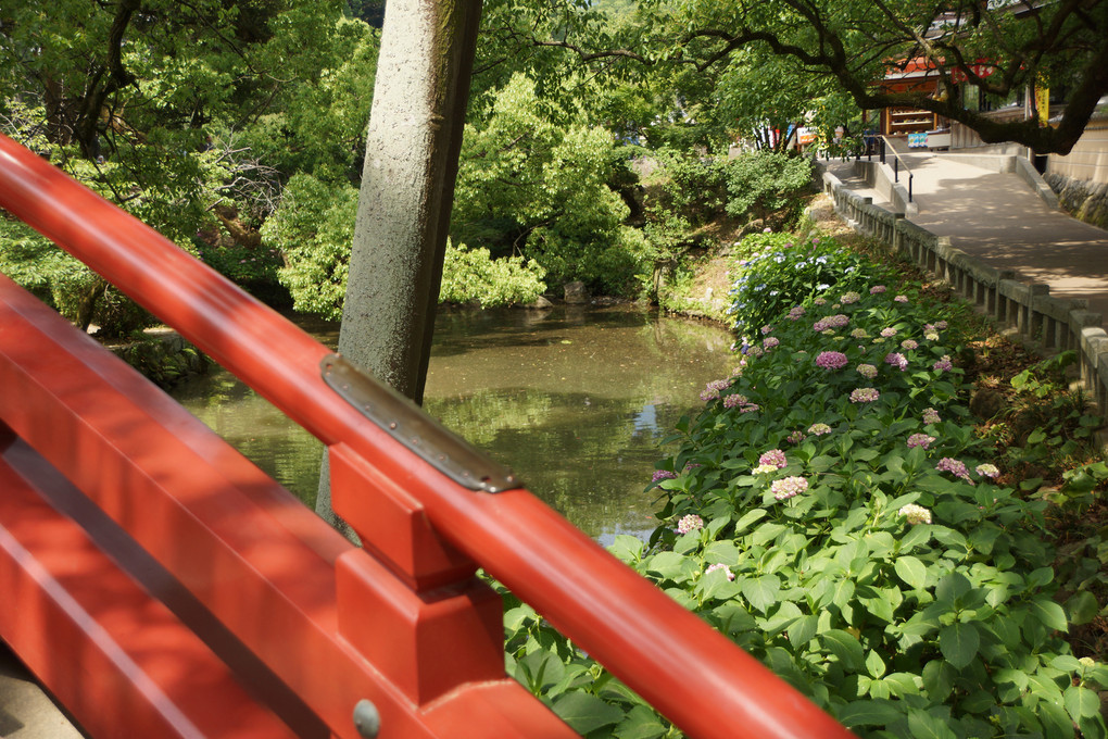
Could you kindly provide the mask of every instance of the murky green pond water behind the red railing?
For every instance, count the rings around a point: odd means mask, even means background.
[[[336,346],[337,325],[296,320]],[[644,489],[659,442],[730,371],[730,342],[717,326],[627,307],[441,311],[423,406],[607,542],[653,528],[655,494]],[[312,504],[315,438],[218,368],[173,394]]]

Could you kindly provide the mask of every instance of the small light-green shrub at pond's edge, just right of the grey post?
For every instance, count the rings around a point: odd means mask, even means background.
[[[543,268],[523,257],[493,259],[489,249],[447,243],[440,302],[478,304],[482,308],[534,302],[543,294]]]

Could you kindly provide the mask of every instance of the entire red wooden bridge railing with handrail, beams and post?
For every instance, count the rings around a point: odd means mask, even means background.
[[[0,636],[93,736],[575,736],[505,676],[478,566],[690,736],[852,736],[525,490],[482,489],[463,443],[418,415],[398,440],[376,382],[4,137],[0,205],[318,437],[365,543],[0,276]]]

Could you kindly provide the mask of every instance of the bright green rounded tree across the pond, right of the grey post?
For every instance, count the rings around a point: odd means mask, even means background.
[[[516,75],[486,122],[466,126],[451,235],[493,256],[519,254],[552,286],[581,279],[626,292],[643,271],[640,237],[608,186],[618,157],[611,132],[544,112],[534,84]]]

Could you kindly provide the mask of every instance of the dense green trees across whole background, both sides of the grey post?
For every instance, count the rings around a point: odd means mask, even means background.
[[[0,131],[233,279],[337,316],[383,8],[0,0]],[[551,289],[649,291],[710,219],[796,192],[776,160],[725,167],[735,144],[781,152],[802,124],[827,142],[910,105],[1065,152],[1108,93],[1106,39],[1108,0],[485,0],[450,235],[470,260],[535,260]],[[938,92],[876,84],[909,63]],[[1056,125],[976,110],[1028,85],[1065,94]],[[769,199],[748,213],[740,182]],[[141,320],[48,253],[0,220],[0,269],[81,325]]]

